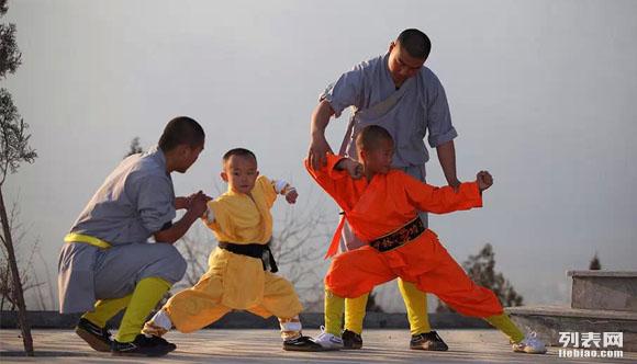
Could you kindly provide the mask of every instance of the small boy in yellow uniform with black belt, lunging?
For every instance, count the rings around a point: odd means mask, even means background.
[[[223,156],[221,178],[228,190],[208,203],[202,217],[219,247],[210,254],[209,269],[191,288],[172,296],[144,333],[161,335],[172,326],[192,332],[219,320],[233,309],[279,318],[283,350],[320,351],[322,346],[301,334],[299,312],[303,309],[292,284],[276,275],[277,265],[269,242],[272,238],[272,207],[277,195],[288,203],[297,191],[284,181],[259,175],[256,156],[243,148]]]

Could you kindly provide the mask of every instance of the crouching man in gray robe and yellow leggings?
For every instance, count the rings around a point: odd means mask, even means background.
[[[59,310],[86,312],[76,332],[91,348],[149,356],[175,349],[164,339],[139,333],[150,310],[186,272],[187,263],[172,243],[202,216],[210,197],[199,192],[176,198],[170,173],[185,173],[203,144],[203,128],[195,121],[170,121],[157,147],[115,168],[65,237],[58,264]],[[186,214],[174,224],[176,208]],[[150,237],[156,242],[148,242]],[[124,308],[112,341],[107,321]]]

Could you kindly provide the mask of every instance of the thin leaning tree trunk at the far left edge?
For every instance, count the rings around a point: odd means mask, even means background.
[[[11,269],[11,277],[13,283],[14,300],[18,304],[18,322],[22,330],[22,341],[24,342],[24,352],[27,356],[33,356],[33,338],[31,338],[31,325],[26,318],[26,306],[24,305],[24,293],[22,291],[22,282],[20,281],[20,271],[18,270],[18,261],[15,260],[15,252],[13,250],[13,240],[11,239],[11,227],[9,226],[9,218],[7,217],[7,208],[4,207],[4,197],[2,196],[2,187],[0,186],[0,218],[2,219],[2,232],[4,234],[4,244],[7,246],[7,258],[9,259],[9,266]]]

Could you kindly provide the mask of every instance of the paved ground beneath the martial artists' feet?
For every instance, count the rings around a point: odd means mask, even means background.
[[[306,330],[315,335],[316,330]],[[299,353],[281,350],[273,330],[202,330],[193,334],[169,333],[166,338],[178,345],[177,351],[160,360],[113,357],[97,353],[70,330],[34,330],[37,356],[20,355],[22,339],[18,330],[0,330],[0,362],[46,363],[637,363],[637,353],[624,352],[624,359],[562,359],[557,348],[547,355],[515,354],[504,337],[495,330],[439,330],[449,344],[445,353],[407,349],[406,330],[369,330],[365,348],[359,351]]]

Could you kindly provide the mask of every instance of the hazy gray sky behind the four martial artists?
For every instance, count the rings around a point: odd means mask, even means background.
[[[216,195],[221,156],[243,146],[262,174],[300,192],[297,206],[276,205],[277,221],[318,208],[335,227],[336,207],[302,167],[312,110],[328,83],[407,27],[432,38],[425,65],[447,92],[459,178],[485,169],[495,180],[483,208],[429,217],[449,252],[461,262],[490,242],[526,304],[568,304],[566,272],[595,252],[604,269],[637,269],[635,1],[9,5],[1,21],[16,24],[23,61],[2,87],[38,158],[3,193],[20,205],[24,246],[38,241],[35,270],[54,284],[64,235],[131,139],[149,147],[177,115],[206,132],[198,162],[174,175],[177,194]],[[333,148],[346,124],[331,122]],[[427,169],[429,183],[446,183],[435,151]],[[404,310],[393,283],[380,292],[385,309]]]

